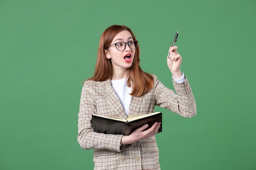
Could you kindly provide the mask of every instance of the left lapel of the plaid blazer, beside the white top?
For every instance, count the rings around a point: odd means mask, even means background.
[[[111,80],[108,79],[106,81],[101,82],[101,90],[103,91],[108,103],[110,104],[111,108],[119,117],[127,118],[127,115],[124,111],[124,108],[117,97],[114,89],[111,86]]]

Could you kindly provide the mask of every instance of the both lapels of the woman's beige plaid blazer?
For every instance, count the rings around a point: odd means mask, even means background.
[[[125,119],[128,117],[124,111],[124,108],[117,97],[117,94],[115,93],[114,89],[111,86],[111,80],[108,79],[106,81],[102,81],[100,83],[100,88],[103,91],[106,99],[108,100],[108,103],[110,104],[111,108],[114,110],[115,113],[119,117],[124,117]],[[140,110],[141,106],[141,101],[142,101],[142,96],[141,97],[135,97],[131,96],[130,104],[129,104],[129,116],[131,115],[137,115]]]

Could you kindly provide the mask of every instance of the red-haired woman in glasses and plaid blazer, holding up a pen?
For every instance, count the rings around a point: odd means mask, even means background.
[[[139,45],[127,26],[110,26],[101,35],[94,76],[84,83],[78,115],[78,142],[83,149],[94,149],[94,170],[159,170],[155,134],[161,123],[143,131],[146,124],[127,136],[103,134],[90,127],[92,114],[126,119],[153,113],[155,105],[183,117],[196,114],[189,82],[180,71],[177,46],[169,52],[167,65],[177,95],[155,75],[141,70]]]

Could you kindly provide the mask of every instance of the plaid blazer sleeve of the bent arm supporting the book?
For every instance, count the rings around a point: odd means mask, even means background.
[[[95,96],[92,95],[89,84],[85,82],[81,92],[77,140],[83,149],[108,149],[121,152],[124,149],[124,145],[120,146],[123,135],[94,132],[90,126],[92,114],[97,114],[97,109]]]

